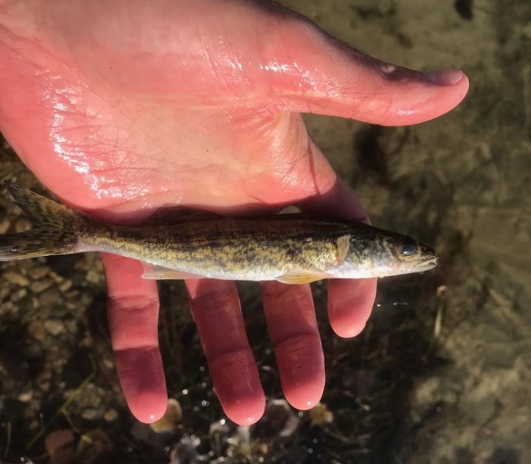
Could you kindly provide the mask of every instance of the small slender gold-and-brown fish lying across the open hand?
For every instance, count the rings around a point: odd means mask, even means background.
[[[417,240],[354,220],[301,212],[225,217],[182,211],[171,220],[108,224],[7,183],[32,228],[0,235],[0,261],[109,252],[142,261],[144,279],[223,279],[307,284],[434,268]]]

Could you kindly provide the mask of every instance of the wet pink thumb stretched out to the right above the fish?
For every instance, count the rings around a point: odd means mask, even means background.
[[[262,78],[283,109],[406,125],[447,113],[468,91],[461,70],[423,73],[383,63],[304,17],[286,15],[283,22],[277,47],[262,56]]]

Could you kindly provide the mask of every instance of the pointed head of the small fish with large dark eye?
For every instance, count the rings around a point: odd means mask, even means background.
[[[349,248],[345,264],[358,268],[358,275],[363,277],[424,272],[435,268],[438,262],[434,249],[408,235],[380,231],[361,243],[353,236]]]

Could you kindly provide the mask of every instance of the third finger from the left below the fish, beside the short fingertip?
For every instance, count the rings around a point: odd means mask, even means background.
[[[262,283],[262,300],[286,400],[315,406],[324,389],[324,356],[309,285]]]

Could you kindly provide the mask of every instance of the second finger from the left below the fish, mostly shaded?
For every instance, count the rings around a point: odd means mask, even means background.
[[[187,280],[186,284],[221,406],[237,424],[253,424],[264,414],[265,396],[236,286],[231,281],[212,279]]]

